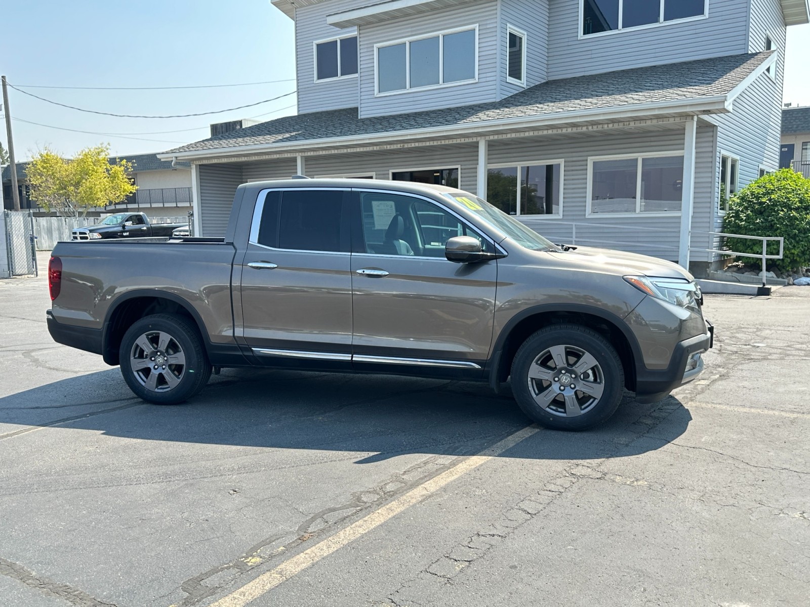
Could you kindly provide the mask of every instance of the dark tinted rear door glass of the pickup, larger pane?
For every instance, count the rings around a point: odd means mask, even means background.
[[[340,190],[286,191],[281,197],[279,248],[340,251]]]

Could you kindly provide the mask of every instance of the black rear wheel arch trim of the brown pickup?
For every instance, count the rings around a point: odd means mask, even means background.
[[[104,363],[119,364],[118,348],[121,346],[126,329],[129,329],[135,320],[160,313],[179,314],[191,320],[197,327],[199,336],[203,340],[203,346],[207,352],[210,352],[211,344],[208,340],[205,323],[194,306],[181,296],[168,291],[138,289],[129,291],[126,295],[116,299],[107,312],[101,338],[101,354],[104,357]]]

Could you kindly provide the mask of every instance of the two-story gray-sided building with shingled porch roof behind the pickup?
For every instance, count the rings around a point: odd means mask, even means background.
[[[237,185],[458,185],[556,242],[714,259],[728,195],[778,167],[788,25],[807,0],[272,0],[298,114],[168,151],[198,234]],[[691,239],[690,239],[691,233]]]

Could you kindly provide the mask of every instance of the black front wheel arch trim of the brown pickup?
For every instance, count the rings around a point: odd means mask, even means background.
[[[489,384],[497,386],[509,377],[514,355],[532,333],[549,325],[583,325],[596,330],[616,347],[625,371],[625,387],[636,388],[636,367],[642,363],[642,349],[627,323],[612,312],[585,304],[540,304],[514,315],[498,335],[490,359]]]

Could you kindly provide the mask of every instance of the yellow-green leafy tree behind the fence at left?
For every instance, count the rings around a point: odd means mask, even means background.
[[[58,214],[87,214],[87,210],[122,202],[136,186],[127,173],[132,163],[109,159],[109,146],[87,147],[74,159],[63,159],[48,148],[26,168],[31,198]]]

